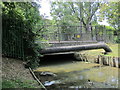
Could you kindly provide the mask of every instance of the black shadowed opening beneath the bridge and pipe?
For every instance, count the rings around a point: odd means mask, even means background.
[[[71,63],[75,61],[74,54],[45,55],[40,58],[40,66]]]

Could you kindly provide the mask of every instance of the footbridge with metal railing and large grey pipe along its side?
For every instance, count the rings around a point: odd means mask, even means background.
[[[82,26],[45,26],[46,30],[54,32],[46,33],[43,38],[47,42],[37,41],[44,47],[39,52],[43,55],[74,53],[81,50],[104,49],[111,52],[111,49],[100,42],[110,42],[113,32],[108,33],[105,27],[98,28],[91,26],[91,30],[86,32]],[[71,30],[71,31],[70,31]],[[110,32],[110,30],[109,30]],[[112,38],[111,38],[112,37]]]

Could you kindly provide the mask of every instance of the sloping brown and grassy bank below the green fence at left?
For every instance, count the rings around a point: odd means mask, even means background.
[[[24,62],[17,59],[2,58],[2,88],[41,88],[32,77]]]

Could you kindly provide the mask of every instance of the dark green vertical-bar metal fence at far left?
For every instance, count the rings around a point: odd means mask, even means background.
[[[23,25],[11,19],[2,20],[2,55],[24,59]]]

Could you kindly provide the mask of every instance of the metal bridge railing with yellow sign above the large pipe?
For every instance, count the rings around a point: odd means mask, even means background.
[[[45,25],[42,37],[47,41],[104,41],[114,42],[113,30],[106,28],[91,26],[89,31],[86,31],[83,26],[64,26],[64,25]]]

